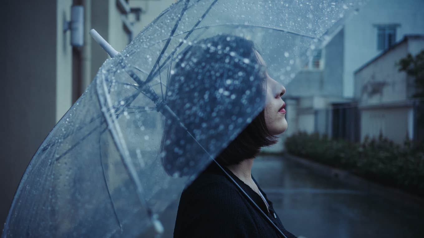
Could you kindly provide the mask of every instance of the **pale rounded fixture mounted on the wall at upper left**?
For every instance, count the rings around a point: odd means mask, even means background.
[[[63,32],[71,31],[71,45],[82,47],[84,45],[84,6],[71,7],[71,20],[64,21]]]

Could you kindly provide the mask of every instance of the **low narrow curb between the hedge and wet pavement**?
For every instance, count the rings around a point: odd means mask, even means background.
[[[368,195],[384,196],[385,198],[391,199],[396,202],[408,203],[408,205],[424,208],[423,198],[416,195],[408,194],[400,189],[391,188],[385,185],[381,185],[379,183],[374,183],[369,180],[365,180],[364,178],[359,177],[357,175],[351,174],[346,170],[336,169],[295,155],[284,153],[280,154],[280,156],[283,156],[284,158],[287,158],[295,163],[301,164],[302,166],[308,167],[317,174],[320,174],[325,177],[331,177],[332,179],[336,179],[340,182],[362,189],[366,191],[366,194]]]

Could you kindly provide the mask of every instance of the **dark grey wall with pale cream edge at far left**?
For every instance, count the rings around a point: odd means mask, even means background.
[[[69,1],[6,1],[1,101],[0,224],[31,157],[70,106]],[[6,37],[5,37],[6,36]],[[65,41],[67,39],[67,41]],[[68,68],[69,67],[69,68]],[[2,225],[3,227],[3,225]]]

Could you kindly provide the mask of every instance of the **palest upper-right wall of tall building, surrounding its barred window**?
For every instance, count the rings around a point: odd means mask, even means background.
[[[405,34],[424,33],[424,1],[372,0],[344,27],[343,95],[353,97],[353,72],[381,53],[373,24],[400,24],[396,42]]]

